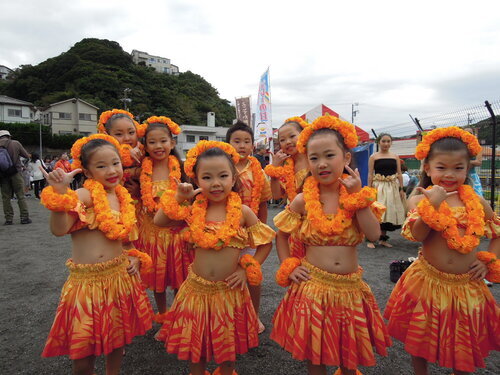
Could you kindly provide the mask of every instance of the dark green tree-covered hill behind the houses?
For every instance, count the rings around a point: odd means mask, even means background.
[[[203,77],[190,71],[156,73],[133,64],[117,42],[102,39],[83,39],[57,57],[21,66],[0,85],[0,93],[37,106],[79,97],[104,111],[122,108],[125,88],[132,89],[129,110],[141,120],[154,114],[196,125],[206,123],[207,112],[215,112],[216,124],[229,126],[235,118],[234,107]]]

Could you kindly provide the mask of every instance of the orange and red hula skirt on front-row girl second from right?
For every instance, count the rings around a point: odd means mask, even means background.
[[[340,275],[305,259],[302,265],[311,279],[288,288],[274,314],[271,339],[314,365],[375,365],[373,347],[385,356],[391,339],[361,267]]]

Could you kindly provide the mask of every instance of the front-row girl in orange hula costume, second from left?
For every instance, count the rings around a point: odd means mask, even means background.
[[[236,374],[236,354],[257,346],[257,315],[247,288],[262,281],[260,264],[271,251],[274,231],[241,204],[233,191],[239,155],[229,144],[201,141],[189,150],[186,174],[199,186],[179,184],[164,193],[155,224],[185,220],[196,255],[158,338],[167,352],[190,361],[192,375]],[[189,202],[194,198],[193,204]],[[240,251],[256,247],[255,257]]]

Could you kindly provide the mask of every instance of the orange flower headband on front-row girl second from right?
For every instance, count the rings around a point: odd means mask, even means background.
[[[335,116],[320,116],[307,126],[299,135],[297,141],[297,150],[305,154],[306,145],[312,133],[319,129],[332,129],[338,131],[344,138],[344,143],[348,148],[354,148],[358,145],[358,134],[353,124],[341,120]]]

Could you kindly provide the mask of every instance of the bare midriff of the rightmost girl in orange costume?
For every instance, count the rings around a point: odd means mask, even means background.
[[[463,230],[460,232],[460,235],[463,236]],[[476,260],[476,251],[461,254],[456,250],[449,249],[441,233],[435,231],[429,233],[424,241],[422,254],[439,271],[454,274],[467,273],[470,270],[470,265]]]

